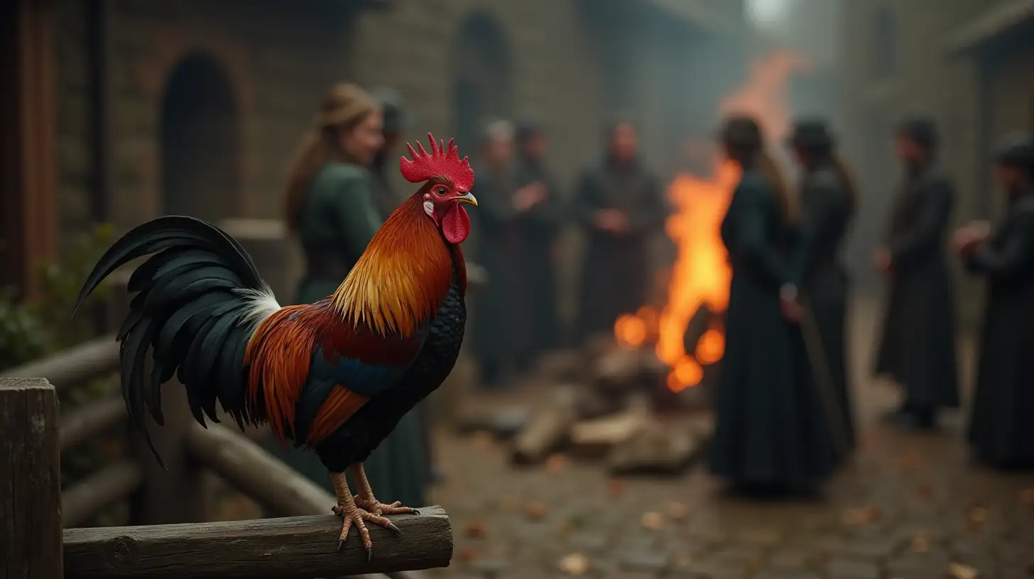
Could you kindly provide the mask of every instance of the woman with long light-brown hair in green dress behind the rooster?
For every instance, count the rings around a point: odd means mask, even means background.
[[[287,183],[287,225],[302,242],[306,272],[295,302],[334,293],[381,227],[368,166],[384,144],[381,103],[362,88],[335,85],[305,136]],[[398,427],[365,463],[371,485],[389,504],[424,505],[427,467],[416,416]],[[313,482],[333,491],[315,453],[267,447]]]

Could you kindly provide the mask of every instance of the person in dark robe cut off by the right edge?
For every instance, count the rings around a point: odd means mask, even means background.
[[[1034,466],[1034,143],[1014,138],[996,159],[1008,196],[990,231],[955,233],[967,269],[987,280],[969,441],[976,457],[1002,467]]]

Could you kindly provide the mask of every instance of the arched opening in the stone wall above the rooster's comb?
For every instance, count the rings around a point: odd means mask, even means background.
[[[501,27],[478,13],[460,27],[453,85],[454,136],[461,150],[473,152],[482,126],[513,114],[513,63]]]

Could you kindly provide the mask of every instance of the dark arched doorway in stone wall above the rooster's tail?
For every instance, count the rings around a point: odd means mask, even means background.
[[[161,101],[162,213],[210,221],[240,205],[240,120],[222,67],[205,54],[174,68]]]

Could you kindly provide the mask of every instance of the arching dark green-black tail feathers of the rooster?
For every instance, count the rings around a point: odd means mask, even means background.
[[[230,235],[201,219],[166,216],[139,225],[104,252],[80,291],[77,309],[115,270],[148,254],[130,276],[127,288],[139,294],[117,339],[126,409],[164,466],[144,416],[164,422],[161,385],[174,375],[201,425],[206,415],[217,421],[216,401],[242,428],[253,423],[243,368],[253,328],[240,322],[249,305],[240,291],[265,291],[266,285],[251,256]]]

